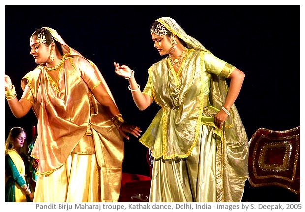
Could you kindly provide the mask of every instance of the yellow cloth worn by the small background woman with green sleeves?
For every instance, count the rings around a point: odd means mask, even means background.
[[[24,181],[26,181],[25,164],[24,164],[22,158],[20,157],[20,155],[18,154],[18,152],[15,149],[8,149],[5,151],[5,155],[6,154],[8,154],[11,157],[20,176],[23,178]],[[6,181],[5,181],[5,184],[6,184]],[[22,188],[20,186],[18,186],[18,184],[16,182],[15,182],[14,186],[15,186],[15,202],[27,202],[26,194],[22,190]]]

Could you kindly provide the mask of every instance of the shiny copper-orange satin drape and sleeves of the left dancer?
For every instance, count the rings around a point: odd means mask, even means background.
[[[99,198],[103,202],[117,202],[124,157],[123,139],[91,90],[102,84],[113,96],[96,65],[70,48],[56,31],[46,29],[61,43],[65,54],[58,79],[54,82],[41,64],[21,82],[22,98],[33,104],[38,119],[38,136],[31,154],[39,159],[37,174],[42,175],[40,179],[47,177],[66,166],[72,151],[80,152],[80,157],[88,157],[93,148],[100,167],[99,187],[102,189]],[[79,141],[84,135],[93,138],[94,147],[90,147],[93,142],[88,141],[88,144],[82,144],[83,150],[79,149]]]

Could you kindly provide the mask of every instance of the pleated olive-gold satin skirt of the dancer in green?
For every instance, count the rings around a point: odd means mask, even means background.
[[[154,160],[150,202],[216,202],[216,142],[211,126],[201,125],[199,140],[186,158]],[[193,192],[192,192],[193,191]]]

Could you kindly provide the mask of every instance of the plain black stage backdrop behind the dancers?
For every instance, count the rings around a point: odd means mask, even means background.
[[[174,18],[215,56],[244,71],[235,104],[249,139],[260,127],[300,125],[300,5],[5,5],[5,74],[19,99],[21,78],[37,66],[30,36],[40,27],[54,28],[96,63],[124,119],[144,132],[160,107],[139,111],[113,62],[133,69],[142,90],[148,68],[161,59],[149,27],[162,16]],[[36,124],[32,110],[16,119],[5,100],[5,139],[12,127],[21,126],[30,140]],[[146,147],[136,138],[124,142],[123,171],[148,175]]]

